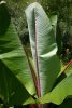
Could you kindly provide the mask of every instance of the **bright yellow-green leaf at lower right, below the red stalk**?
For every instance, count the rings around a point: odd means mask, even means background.
[[[52,92],[40,98],[41,104],[54,103],[61,104],[66,97],[72,95],[72,75],[64,78]]]

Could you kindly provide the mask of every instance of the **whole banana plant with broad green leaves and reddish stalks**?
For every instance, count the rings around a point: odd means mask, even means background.
[[[17,36],[5,2],[0,2],[1,105],[8,108],[28,104],[29,108],[55,108],[54,105],[60,105],[66,97],[70,105],[72,60],[61,71],[56,42],[57,16],[48,17],[37,2],[30,4],[25,14],[32,56]]]

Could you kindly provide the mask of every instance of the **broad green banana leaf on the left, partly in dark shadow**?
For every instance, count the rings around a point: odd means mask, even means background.
[[[33,103],[30,95],[34,93],[24,49],[5,3],[0,2],[0,98],[9,104],[23,104],[28,98]]]

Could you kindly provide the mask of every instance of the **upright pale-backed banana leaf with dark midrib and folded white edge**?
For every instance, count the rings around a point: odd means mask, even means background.
[[[55,40],[57,18],[55,16],[49,19],[37,2],[30,4],[25,12],[39,81],[38,86],[41,89],[41,95],[44,95],[52,90],[60,71]]]

